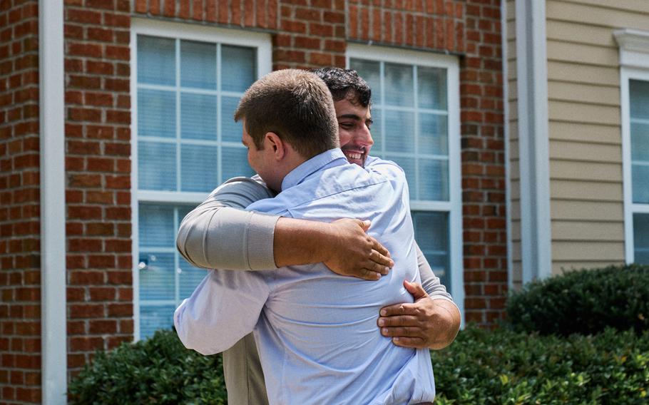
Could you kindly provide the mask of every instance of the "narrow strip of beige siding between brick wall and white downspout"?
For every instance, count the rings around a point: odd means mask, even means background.
[[[518,95],[516,91],[516,2],[506,3],[507,30],[507,83],[506,95],[509,103],[509,198],[511,218],[511,283],[514,288],[521,287],[521,193],[520,172],[518,170]]]

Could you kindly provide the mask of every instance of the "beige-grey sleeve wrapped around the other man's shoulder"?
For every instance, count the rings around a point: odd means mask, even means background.
[[[272,244],[279,216],[244,210],[272,196],[258,178],[228,180],[180,222],[178,252],[206,269],[276,269]]]

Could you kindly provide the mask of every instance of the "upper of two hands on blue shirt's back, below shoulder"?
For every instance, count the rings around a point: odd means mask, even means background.
[[[387,275],[394,262],[390,253],[376,239],[367,235],[370,222],[344,218],[329,224],[329,249],[324,264],[332,272],[364,280],[379,280]]]

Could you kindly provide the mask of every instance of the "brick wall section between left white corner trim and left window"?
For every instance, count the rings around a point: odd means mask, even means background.
[[[129,0],[66,0],[68,369],[133,339]]]

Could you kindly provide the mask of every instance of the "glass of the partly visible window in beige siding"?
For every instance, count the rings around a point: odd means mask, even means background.
[[[649,265],[649,80],[629,79],[633,262]]]

